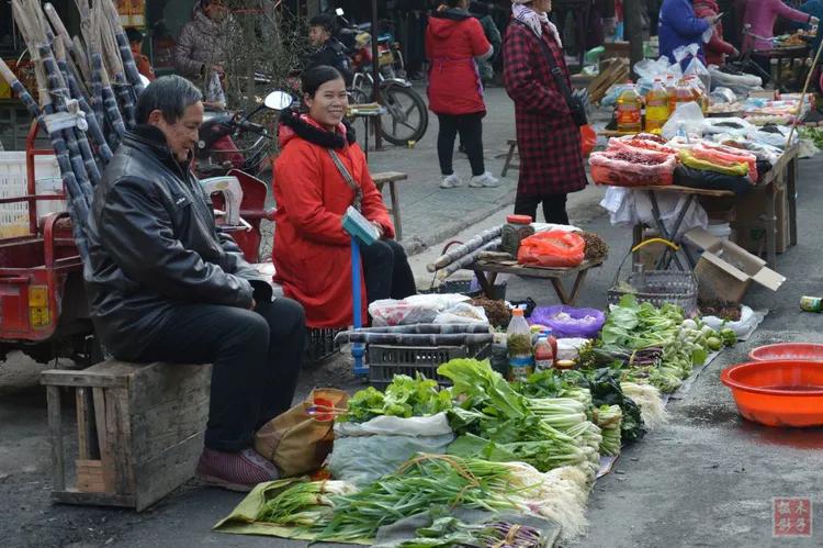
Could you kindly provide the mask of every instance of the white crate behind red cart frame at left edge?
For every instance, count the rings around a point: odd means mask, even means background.
[[[34,186],[37,194],[63,192],[60,169],[54,155],[34,157]],[[0,198],[14,198],[27,194],[25,175],[25,152],[0,152]],[[37,215],[64,211],[66,202],[49,200],[37,202]],[[25,236],[29,234],[29,204],[26,202],[0,204],[0,238]]]

